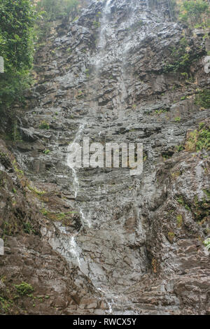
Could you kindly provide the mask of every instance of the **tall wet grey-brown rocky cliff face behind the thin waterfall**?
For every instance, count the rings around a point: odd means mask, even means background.
[[[172,22],[165,1],[139,0],[90,1],[51,32],[13,147],[27,179],[1,146],[7,311],[209,314],[209,158],[184,148],[190,131],[209,127],[209,110],[195,104],[209,82],[204,32]],[[181,74],[167,68],[183,40]],[[84,137],[143,143],[144,172],[74,172],[68,146]],[[36,302],[8,302],[20,281]]]

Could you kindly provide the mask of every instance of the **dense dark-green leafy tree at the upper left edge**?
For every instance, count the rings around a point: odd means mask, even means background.
[[[1,0],[0,56],[4,72],[0,75],[0,104],[9,106],[22,99],[22,92],[31,82],[28,78],[33,62],[34,6],[29,0]]]

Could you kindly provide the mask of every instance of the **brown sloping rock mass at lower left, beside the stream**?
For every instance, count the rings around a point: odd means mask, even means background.
[[[48,226],[38,207],[41,191],[30,185],[2,140],[0,156],[5,164],[0,176],[1,314],[74,314],[80,304],[83,314],[92,314],[93,309],[85,311],[85,300],[97,301],[94,309],[102,304],[92,283],[41,237],[41,227]],[[62,207],[59,198],[55,203]],[[16,286],[22,282],[33,291],[19,293]]]

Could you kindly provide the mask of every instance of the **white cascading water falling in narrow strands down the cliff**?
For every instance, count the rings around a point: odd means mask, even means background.
[[[98,96],[99,94],[99,88],[100,88],[100,79],[102,75],[102,70],[104,68],[104,65],[110,65],[113,63],[115,65],[116,59],[118,59],[118,52],[114,52],[113,50],[106,50],[106,46],[110,42],[117,42],[117,36],[115,34],[115,29],[111,24],[110,20],[110,15],[111,15],[111,5],[113,3],[113,0],[108,0],[106,1],[106,5],[104,6],[104,9],[102,10],[102,17],[100,20],[101,24],[101,29],[99,33],[99,41],[97,44],[97,55],[94,57],[94,65],[96,69],[96,93]],[[109,41],[109,43],[108,43]],[[118,50],[120,51],[120,50]],[[119,94],[118,97],[116,97],[116,100],[113,102],[114,109],[116,109],[116,116],[120,118],[121,115],[124,115],[125,113],[125,99],[127,97],[127,90],[126,90],[126,85],[125,85],[125,78],[126,78],[126,73],[125,73],[125,55],[126,55],[126,49],[123,49],[122,52],[122,60],[120,62],[120,65],[118,65],[118,71],[120,71],[120,82],[118,84],[118,90]],[[100,111],[100,109],[99,109]],[[111,125],[109,124],[109,129],[111,128]],[[80,134],[83,130],[83,127],[80,126],[78,129],[78,132],[76,134],[76,137],[74,139],[74,142],[77,142]],[[99,132],[99,137],[102,134],[102,131]],[[71,148],[69,148],[69,151],[71,151]],[[67,162],[68,163],[68,162]],[[72,168],[71,164],[68,163],[69,167],[72,169],[73,172],[73,181],[74,181],[74,187],[75,187],[75,193],[77,195],[78,190],[79,190],[79,182],[78,182],[78,176],[76,169]],[[101,199],[101,194],[102,194],[102,188],[99,186],[97,189],[97,195],[95,195],[95,198],[98,200],[97,204],[98,207],[100,207],[100,199]],[[76,197],[75,195],[75,197]],[[82,215],[83,218],[83,212],[80,209],[80,214]],[[83,218],[83,222],[85,222]],[[90,227],[90,226],[89,226]],[[80,255],[78,254],[78,245],[76,244],[75,239],[71,239],[72,242],[72,253],[76,258],[80,258]],[[102,293],[104,299],[106,300],[106,304],[108,306],[108,313],[109,314],[127,314],[126,311],[124,312],[124,308],[127,307],[132,307],[132,303],[127,300],[123,295],[114,293],[113,290],[111,291],[109,288],[106,286],[102,286],[99,281],[97,281],[96,277],[97,274],[92,278],[87,271],[87,266],[92,267],[94,264],[92,264],[92,261],[90,260],[85,263],[83,258],[78,259],[78,264],[80,266],[80,269],[83,267],[83,273],[85,273],[87,276],[89,276],[90,280],[92,281],[93,285],[97,290]],[[85,270],[84,270],[85,269]],[[135,314],[134,311],[130,311],[129,314]]]

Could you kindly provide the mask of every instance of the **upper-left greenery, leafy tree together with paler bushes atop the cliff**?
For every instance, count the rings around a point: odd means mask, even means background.
[[[24,101],[24,92],[32,84],[29,71],[33,63],[34,40],[40,43],[49,34],[51,21],[73,17],[80,10],[80,0],[0,1],[0,56],[4,73],[0,74],[0,106]],[[36,28],[34,29],[34,26]]]

